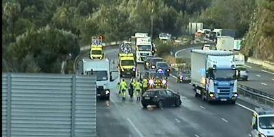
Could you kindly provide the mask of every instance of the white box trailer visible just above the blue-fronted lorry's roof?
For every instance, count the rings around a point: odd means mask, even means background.
[[[230,36],[217,37],[216,49],[221,51],[234,51],[234,38]]]

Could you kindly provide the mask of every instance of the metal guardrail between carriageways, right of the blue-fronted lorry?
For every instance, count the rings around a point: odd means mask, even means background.
[[[256,90],[254,88],[249,88],[245,85],[238,84],[238,93],[243,95],[244,97],[249,97],[258,103],[262,103],[264,105],[269,105],[274,108],[274,97],[273,95],[269,95],[263,91]]]

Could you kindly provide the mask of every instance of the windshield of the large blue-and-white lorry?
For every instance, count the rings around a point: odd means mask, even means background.
[[[213,78],[214,79],[235,79],[235,70],[214,70]]]

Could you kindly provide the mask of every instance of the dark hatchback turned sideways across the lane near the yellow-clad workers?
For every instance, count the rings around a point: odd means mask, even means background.
[[[142,95],[142,107],[147,108],[147,105],[157,105],[159,108],[164,108],[165,106],[175,105],[179,107],[182,104],[180,95],[173,90],[158,88],[147,90]]]

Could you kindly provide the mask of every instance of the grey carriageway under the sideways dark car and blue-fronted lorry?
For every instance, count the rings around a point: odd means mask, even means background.
[[[118,52],[117,49],[105,51],[107,58],[114,59],[113,69],[116,69]],[[142,65],[139,64],[138,69],[143,71]],[[81,70],[77,73],[81,73]],[[118,88],[113,87],[110,101],[97,102],[99,137],[249,136],[252,116],[250,108],[253,109],[253,105],[240,100],[236,105],[208,104],[194,97],[192,86],[177,84],[173,77],[169,78],[169,88],[182,96],[182,105],[179,108],[143,109],[135,98],[127,97],[122,101]]]

